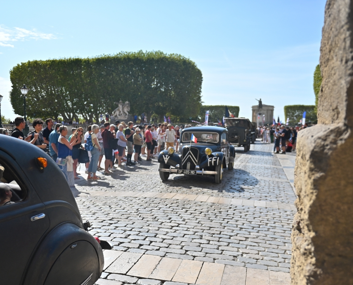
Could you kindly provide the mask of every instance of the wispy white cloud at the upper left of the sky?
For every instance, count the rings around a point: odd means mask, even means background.
[[[22,28],[8,28],[0,25],[0,46],[14,47],[12,44],[16,41],[34,40],[51,40],[56,38],[53,34],[45,34],[36,29],[26,30]]]

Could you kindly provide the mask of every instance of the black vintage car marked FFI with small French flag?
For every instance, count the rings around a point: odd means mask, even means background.
[[[192,137],[196,138],[192,141]],[[194,142],[195,141],[195,142]],[[199,126],[183,129],[180,133],[180,154],[169,147],[158,155],[159,174],[167,180],[170,173],[213,175],[221,183],[223,168],[233,169],[234,147],[229,144],[227,129]]]

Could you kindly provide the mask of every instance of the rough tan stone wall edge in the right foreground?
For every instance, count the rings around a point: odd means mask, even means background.
[[[328,0],[318,125],[298,133],[292,285],[353,284],[353,0]]]

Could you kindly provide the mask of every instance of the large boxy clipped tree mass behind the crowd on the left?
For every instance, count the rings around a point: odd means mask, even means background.
[[[10,71],[14,112],[30,117],[93,122],[111,114],[120,100],[130,102],[130,114],[196,116],[201,107],[202,73],[179,54],[121,52],[95,58],[34,60]]]

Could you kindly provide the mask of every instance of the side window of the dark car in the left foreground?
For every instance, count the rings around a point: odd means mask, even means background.
[[[5,160],[0,158],[0,207],[19,203],[27,194],[18,173]]]

